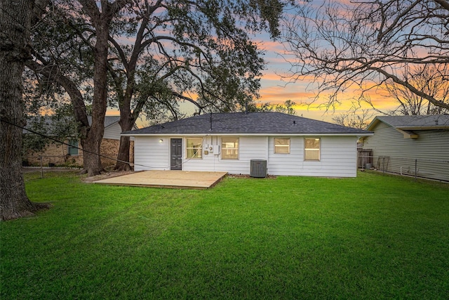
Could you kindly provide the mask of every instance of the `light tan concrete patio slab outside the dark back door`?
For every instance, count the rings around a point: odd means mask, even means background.
[[[128,185],[151,188],[210,188],[227,172],[209,171],[140,171],[133,174],[94,181],[105,185]]]

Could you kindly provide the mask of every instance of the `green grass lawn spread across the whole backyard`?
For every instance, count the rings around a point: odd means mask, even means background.
[[[210,190],[26,174],[0,299],[448,299],[449,185],[225,178]]]

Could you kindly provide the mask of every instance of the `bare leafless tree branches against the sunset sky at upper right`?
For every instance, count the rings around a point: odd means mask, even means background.
[[[283,41],[292,56],[293,81],[311,77],[327,107],[347,91],[360,99],[396,84],[436,107],[449,108],[441,93],[410,80],[410,69],[434,66],[434,80],[448,86],[449,2],[324,1],[303,6],[286,20]],[[289,56],[289,58],[290,58]],[[318,100],[318,97],[315,100]]]

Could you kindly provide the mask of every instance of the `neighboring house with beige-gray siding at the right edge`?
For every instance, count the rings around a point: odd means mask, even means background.
[[[373,167],[403,175],[449,181],[449,115],[375,117],[363,138]]]

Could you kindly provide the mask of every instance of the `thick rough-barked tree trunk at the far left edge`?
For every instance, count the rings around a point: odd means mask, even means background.
[[[34,1],[0,0],[0,219],[30,216],[48,204],[30,202],[22,167],[22,72],[29,58]],[[20,23],[19,23],[20,22]]]

